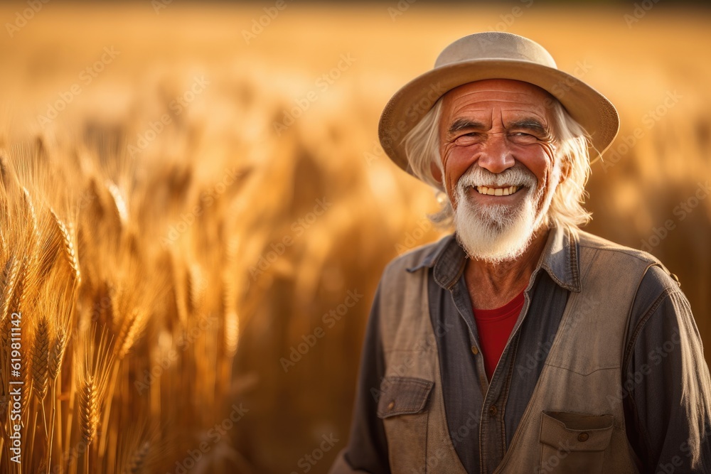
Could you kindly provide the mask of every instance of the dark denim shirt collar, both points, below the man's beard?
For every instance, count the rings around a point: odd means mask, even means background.
[[[566,232],[553,227],[548,233],[543,252],[538,260],[534,275],[545,269],[558,286],[576,293],[580,291],[577,233]],[[411,273],[422,268],[434,269],[434,280],[444,289],[451,289],[464,272],[466,254],[459,247],[454,234],[447,235],[434,244],[428,252],[423,252],[407,271]]]

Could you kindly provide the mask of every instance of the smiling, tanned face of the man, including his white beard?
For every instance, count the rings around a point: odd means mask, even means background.
[[[457,237],[470,257],[515,259],[544,222],[560,181],[550,95],[527,82],[483,80],[442,100],[442,182]]]

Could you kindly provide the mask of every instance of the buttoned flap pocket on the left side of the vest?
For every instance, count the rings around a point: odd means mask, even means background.
[[[378,417],[393,473],[407,470],[403,463],[423,466],[427,461],[427,401],[433,386],[414,377],[385,377],[380,384]]]

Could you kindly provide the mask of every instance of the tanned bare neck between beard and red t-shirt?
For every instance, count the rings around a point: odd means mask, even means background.
[[[496,264],[477,259],[466,262],[464,279],[474,308],[500,308],[525,289],[545,248],[548,232],[547,228],[535,232],[533,240],[515,260]]]

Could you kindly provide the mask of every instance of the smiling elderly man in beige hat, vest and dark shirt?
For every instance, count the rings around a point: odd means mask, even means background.
[[[711,380],[678,280],[579,230],[616,109],[537,43],[478,33],[390,99],[380,143],[454,235],[373,302],[333,473],[709,473]]]

